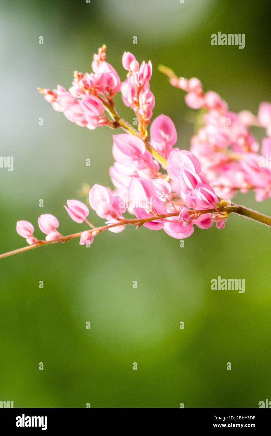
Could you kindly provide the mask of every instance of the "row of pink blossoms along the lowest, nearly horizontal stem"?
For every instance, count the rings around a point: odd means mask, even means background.
[[[125,136],[126,135],[120,135]],[[127,145],[129,146],[129,138]],[[125,140],[125,138],[122,140]],[[143,143],[143,141],[141,141]],[[144,143],[143,143],[144,144]],[[137,148],[129,153],[129,163],[137,162]],[[168,175],[178,186],[179,194],[184,205],[174,204],[171,200],[171,185],[163,178],[152,180],[146,177],[130,177],[128,185],[129,205],[133,214],[139,219],[155,218],[143,225],[151,230],[161,230],[173,238],[186,238],[194,232],[194,225],[199,228],[210,228],[214,221],[217,228],[225,225],[226,216],[215,213],[201,213],[204,210],[216,209],[218,198],[209,185],[207,179],[201,176],[201,166],[197,158],[187,150],[174,149],[167,161]],[[91,208],[100,218],[106,219],[106,225],[111,232],[122,232],[126,220],[123,214],[127,210],[124,198],[113,194],[109,188],[95,184],[89,193]],[[70,218],[77,223],[86,222],[89,215],[87,206],[78,200],[67,200],[64,206]],[[191,210],[192,209],[192,210]],[[200,213],[198,211],[201,211]],[[214,211],[213,211],[214,212]],[[173,215],[164,217],[164,215]],[[123,224],[122,224],[123,221]],[[45,233],[46,241],[57,242],[62,235],[57,231],[59,222],[54,215],[45,214],[38,218],[40,230]],[[92,225],[91,225],[92,226]],[[93,227],[93,226],[92,226]],[[17,222],[17,233],[26,238],[28,244],[37,244],[40,241],[33,236],[34,227],[29,221]],[[95,230],[95,228],[94,228]],[[95,234],[95,233],[94,233]],[[82,233],[80,245],[87,242],[91,244],[94,235],[89,231]]]

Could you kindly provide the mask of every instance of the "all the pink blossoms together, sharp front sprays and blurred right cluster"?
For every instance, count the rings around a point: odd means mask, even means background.
[[[187,92],[187,105],[204,110],[204,126],[191,139],[191,150],[180,150],[174,148],[174,123],[161,114],[151,123],[148,141],[147,126],[155,105],[149,83],[151,62],[140,65],[133,54],[124,52],[122,64],[127,78],[120,82],[106,61],[105,50],[103,46],[94,54],[93,72],[74,73],[69,92],[62,86],[54,91],[40,89],[55,110],[64,112],[79,126],[94,129],[106,125],[125,130],[113,136],[115,162],[109,172],[115,191],[95,184],[89,192],[90,207],[105,220],[105,225],[94,227],[87,220],[88,207],[81,201],[68,200],[64,207],[70,218],[86,223],[91,230],[63,237],[57,230],[57,218],[41,215],[38,225],[47,235],[47,242],[80,236],[80,245],[90,245],[100,231],[122,232],[128,224],[186,238],[194,232],[194,225],[207,229],[215,222],[217,228],[224,227],[229,213],[218,196],[229,198],[237,190],[254,189],[258,200],[271,197],[271,165],[259,165],[259,144],[249,130],[253,125],[266,129],[268,137],[262,141],[261,153],[271,155],[270,103],[261,104],[258,116],[248,111],[229,112],[217,93],[203,92],[197,78],[177,79],[171,75],[171,84]],[[138,131],[115,111],[113,99],[117,92],[134,111]],[[127,211],[136,218],[124,217]],[[18,221],[17,232],[30,245],[45,243],[33,236],[34,228],[28,221]]]

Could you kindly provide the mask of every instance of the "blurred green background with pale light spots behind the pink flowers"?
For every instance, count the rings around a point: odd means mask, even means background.
[[[188,149],[193,111],[157,65],[200,78],[234,111],[256,113],[271,100],[270,12],[268,0],[2,0],[0,154],[14,156],[14,170],[0,169],[0,252],[24,245],[19,219],[33,222],[37,237],[42,213],[56,215],[63,234],[84,229],[64,210],[67,198],[78,198],[82,182],[112,186],[112,131],[70,123],[38,86],[68,89],[102,44],[121,80],[125,50],[151,59],[154,117],[170,116],[177,146]],[[211,46],[218,31],[245,34],[245,48]],[[116,106],[131,122],[120,95]],[[257,204],[251,193],[235,201],[271,215],[271,200]],[[103,222],[94,211],[90,221]],[[270,241],[269,228],[231,216],[224,230],[196,228],[184,248],[162,231],[127,228],[102,233],[88,249],[74,240],[1,260],[0,400],[101,408],[271,400]],[[244,278],[245,293],[211,291],[217,276]]]

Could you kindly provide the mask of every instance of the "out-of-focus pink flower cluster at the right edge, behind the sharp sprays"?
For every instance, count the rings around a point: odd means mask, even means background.
[[[232,198],[237,191],[254,190],[256,200],[271,197],[271,103],[261,103],[258,116],[249,111],[230,112],[216,92],[204,94],[196,78],[171,79],[171,84],[187,92],[185,101],[192,109],[204,109],[204,126],[191,139],[191,152],[201,163],[202,174],[210,180],[217,195]],[[251,126],[266,129],[261,153]],[[266,158],[269,165],[261,165]],[[270,158],[270,159],[269,159]]]

